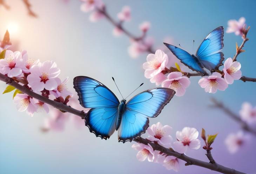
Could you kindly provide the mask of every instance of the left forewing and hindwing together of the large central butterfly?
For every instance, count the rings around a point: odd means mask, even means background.
[[[86,126],[96,136],[109,138],[115,131],[119,100],[105,85],[93,78],[78,76],[73,83],[80,104],[92,108],[85,118]]]

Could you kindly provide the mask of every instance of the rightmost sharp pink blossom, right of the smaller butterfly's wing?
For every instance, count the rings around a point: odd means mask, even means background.
[[[224,79],[228,84],[233,84],[234,80],[239,80],[242,76],[242,71],[240,70],[241,64],[237,61],[233,62],[231,58],[228,58],[224,62]]]

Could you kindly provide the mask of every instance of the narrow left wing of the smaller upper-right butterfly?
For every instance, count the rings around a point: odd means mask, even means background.
[[[195,56],[192,56],[187,51],[182,50],[181,48],[178,48],[176,46],[163,43],[169,50],[178,58],[181,60],[181,62],[192,69],[193,71],[197,71],[198,73],[201,73],[203,75],[207,75],[206,71],[203,69],[201,63],[197,60]]]

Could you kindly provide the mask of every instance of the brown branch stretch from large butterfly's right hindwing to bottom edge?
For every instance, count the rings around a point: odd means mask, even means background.
[[[146,144],[146,145],[150,144],[154,150],[161,151],[161,152],[167,154],[168,156],[175,156],[178,159],[186,161],[187,162],[185,164],[186,166],[196,165],[196,166],[208,168],[210,170],[220,172],[220,173],[225,173],[225,174],[244,174],[243,172],[239,172],[239,171],[236,171],[235,169],[231,169],[231,168],[222,166],[220,164],[217,164],[216,162],[215,163],[205,162],[205,161],[201,161],[201,160],[198,160],[195,158],[188,157],[185,154],[180,154],[174,150],[167,149],[163,146],[160,146],[159,144],[152,143],[152,142],[148,141],[147,139],[144,139],[141,137],[136,138],[135,141],[138,143]]]

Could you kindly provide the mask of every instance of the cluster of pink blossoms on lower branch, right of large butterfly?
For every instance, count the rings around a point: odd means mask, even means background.
[[[184,127],[181,131],[176,132],[176,140],[173,141],[171,137],[172,128],[168,125],[162,126],[160,122],[153,124],[147,129],[149,134],[148,140],[157,143],[166,148],[172,148],[178,153],[185,153],[189,149],[199,149],[201,141],[198,139],[198,131],[195,128]],[[168,170],[173,169],[178,171],[180,160],[174,156],[167,156],[160,151],[154,150],[153,147],[148,144],[142,143],[133,144],[132,147],[139,152],[136,158],[139,161],[148,160],[149,162],[156,162],[162,164]]]

